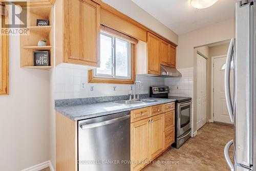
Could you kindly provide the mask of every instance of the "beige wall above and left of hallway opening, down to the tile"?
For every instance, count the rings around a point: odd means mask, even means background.
[[[177,47],[177,68],[194,66],[194,48],[227,40],[235,36],[234,19],[179,35]]]

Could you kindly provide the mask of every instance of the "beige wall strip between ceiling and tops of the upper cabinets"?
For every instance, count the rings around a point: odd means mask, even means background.
[[[155,17],[137,6],[134,2],[127,0],[102,1],[178,45],[178,35],[176,33],[159,22],[159,20],[157,20]]]

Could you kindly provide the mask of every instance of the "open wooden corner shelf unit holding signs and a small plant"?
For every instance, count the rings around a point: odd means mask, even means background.
[[[27,28],[29,34],[20,35],[20,68],[50,70],[53,67],[53,6],[22,7],[29,13]],[[50,26],[37,26],[37,19],[49,20]],[[37,46],[42,38],[48,40],[48,46]],[[50,66],[34,66],[34,51],[49,51]]]

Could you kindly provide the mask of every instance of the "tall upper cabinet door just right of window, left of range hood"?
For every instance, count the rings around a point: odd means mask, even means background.
[[[160,75],[160,38],[147,32],[147,73]]]

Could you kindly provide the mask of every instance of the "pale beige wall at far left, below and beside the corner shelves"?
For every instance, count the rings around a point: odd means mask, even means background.
[[[22,69],[19,36],[10,36],[9,95],[0,96],[0,170],[49,160],[49,71]]]

